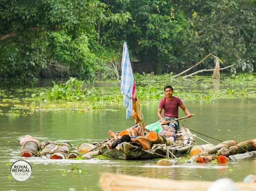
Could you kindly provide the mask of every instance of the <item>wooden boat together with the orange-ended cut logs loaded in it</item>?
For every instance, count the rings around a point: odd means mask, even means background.
[[[195,135],[188,128],[182,126],[177,132],[176,137],[177,140],[174,143],[172,137],[167,139],[155,131],[151,131],[147,136],[137,137],[136,141],[142,145],[142,148],[131,143],[121,143],[116,148],[103,153],[103,155],[123,160],[152,159],[158,157],[176,158],[190,151]]]

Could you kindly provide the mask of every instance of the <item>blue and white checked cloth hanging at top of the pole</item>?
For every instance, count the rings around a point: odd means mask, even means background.
[[[126,119],[132,116],[132,89],[134,78],[132,66],[129,58],[126,42],[123,46],[122,75],[121,75],[121,93],[124,96],[124,106],[126,108]]]

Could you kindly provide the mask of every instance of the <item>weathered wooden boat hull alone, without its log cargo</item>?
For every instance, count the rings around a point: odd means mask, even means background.
[[[179,157],[190,151],[195,135],[193,135],[188,128],[182,126],[176,136],[177,140],[172,146],[154,144],[153,147],[147,151],[125,142],[119,144],[116,148],[103,153],[103,155],[123,160],[153,159],[164,156],[170,158]]]

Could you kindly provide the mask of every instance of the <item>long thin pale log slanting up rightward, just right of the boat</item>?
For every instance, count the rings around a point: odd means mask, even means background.
[[[198,155],[194,155],[192,156],[189,160],[188,163],[193,163],[200,155],[212,155],[212,154],[216,154],[218,152],[219,149],[223,148],[223,147],[230,147],[232,145],[236,145],[236,141],[231,140],[231,141],[224,141],[222,143],[219,143],[218,145],[215,145],[214,147],[207,149],[201,153],[199,153]]]

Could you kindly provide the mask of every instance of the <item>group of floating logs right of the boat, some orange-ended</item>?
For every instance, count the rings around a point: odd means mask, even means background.
[[[256,155],[256,139],[241,143],[236,141],[224,141],[218,145],[205,144],[195,146],[190,151],[191,158],[188,162],[196,160],[197,163],[209,163],[217,159],[218,163],[227,163],[230,160],[243,159]]]

